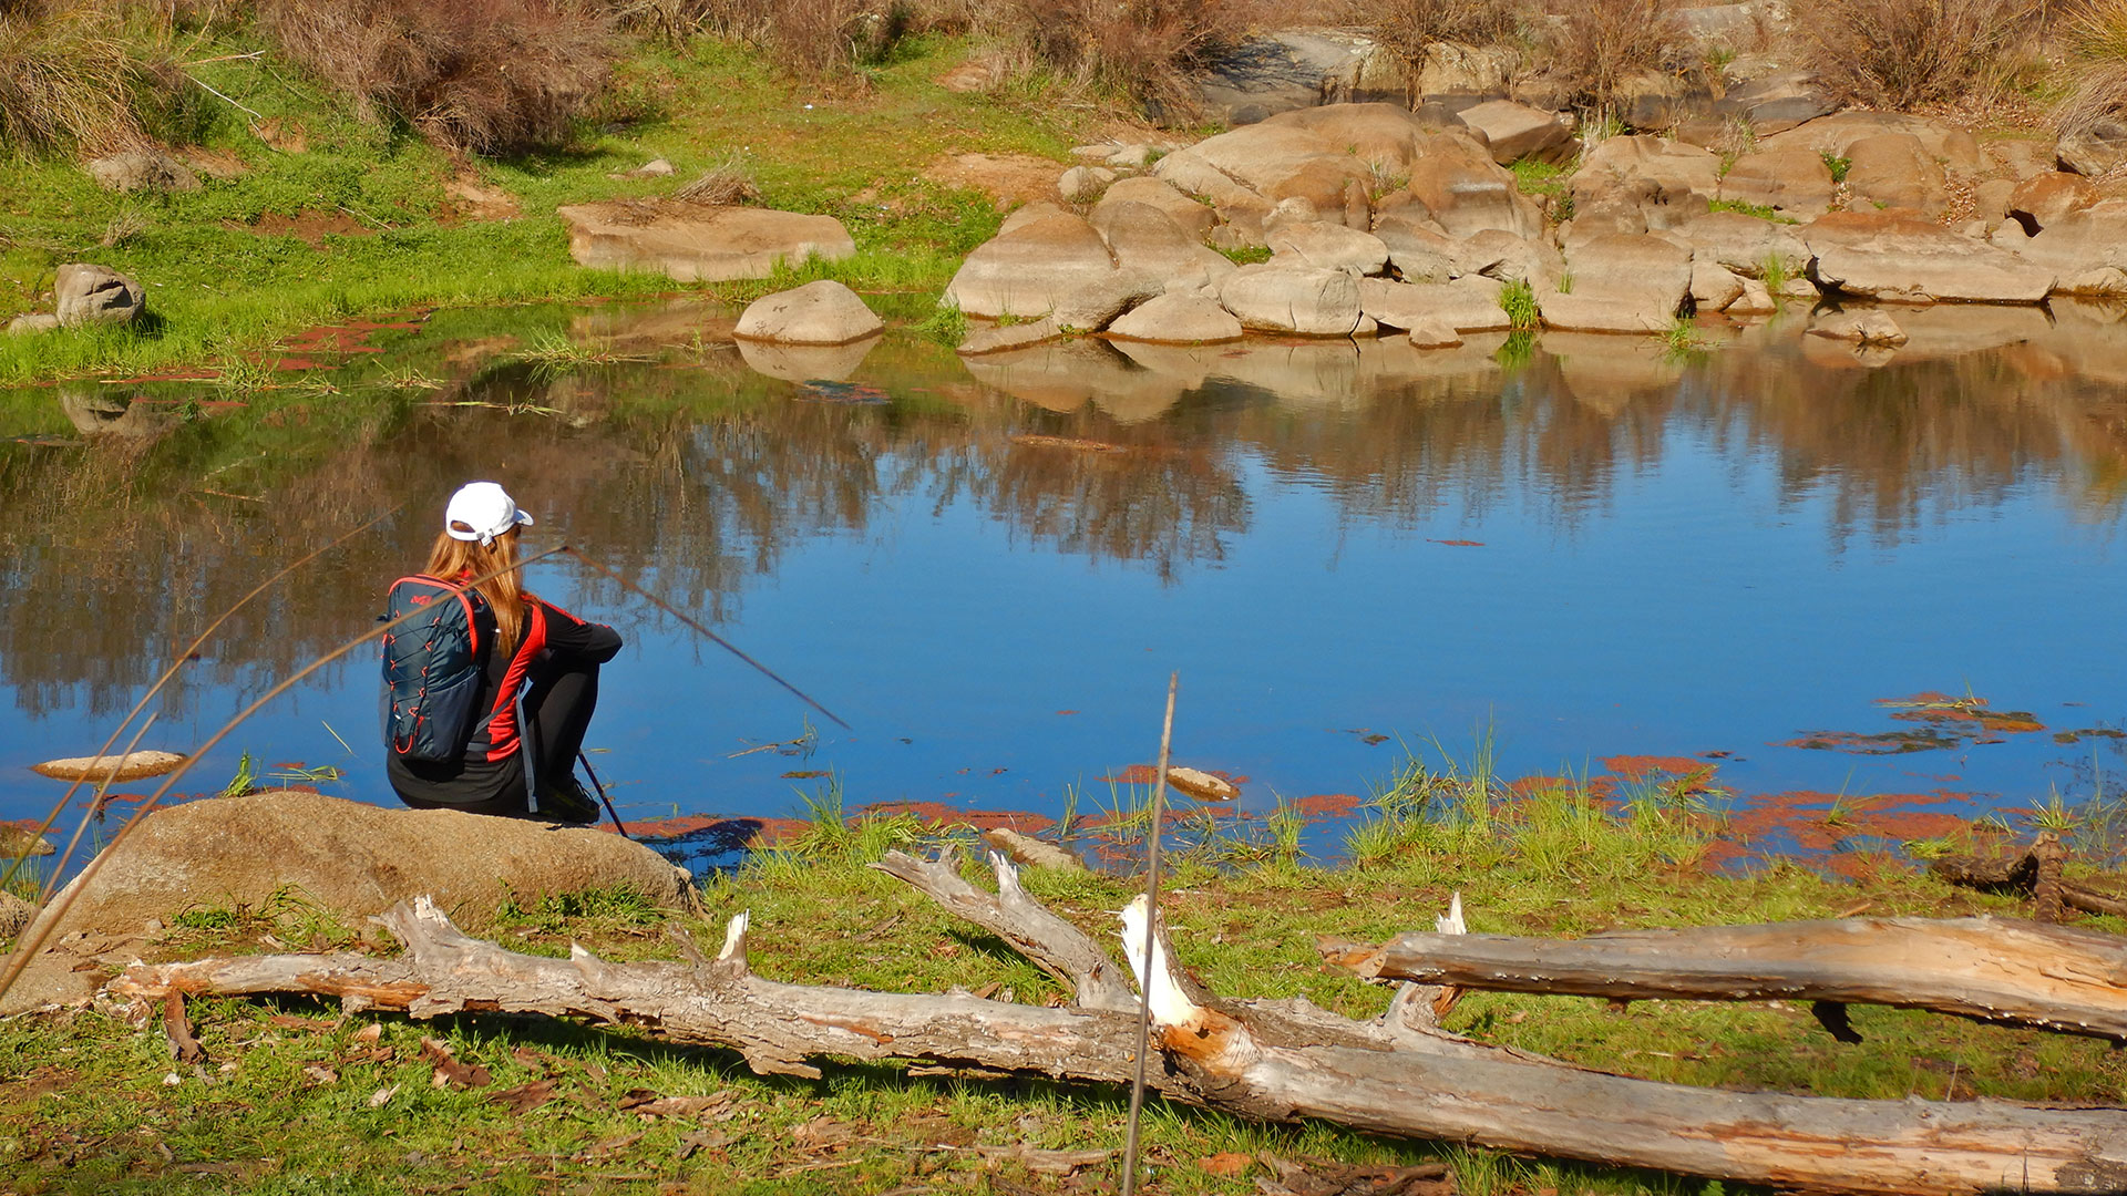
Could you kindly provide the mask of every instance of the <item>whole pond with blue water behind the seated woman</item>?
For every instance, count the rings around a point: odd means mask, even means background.
[[[91,753],[247,589],[385,515],[230,617],[143,747],[189,749],[366,632],[479,477],[538,517],[527,549],[581,547],[847,719],[574,560],[534,564],[627,636],[591,762],[670,832],[834,790],[1093,815],[1153,760],[1170,672],[1176,762],[1240,781],[1244,811],[1329,815],[1314,856],[1410,755],[1885,815],[2078,802],[2121,766],[2116,306],[1897,311],[1910,343],[1868,353],[1797,309],[1685,347],[968,362],[906,330],[740,349],[732,315],[413,313],[291,343],[311,368],[274,385],[0,392],[0,819],[43,815],[60,785],[28,766]],[[245,753],[259,783],[393,802],[374,649],[179,792]],[[1761,845],[1808,847],[1791,832]]]

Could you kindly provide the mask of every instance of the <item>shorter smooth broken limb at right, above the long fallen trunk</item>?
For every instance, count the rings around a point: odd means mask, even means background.
[[[1608,996],[1829,1000],[2127,1039],[2127,938],[1997,917],[1848,917],[1587,938],[1402,934],[1325,943],[1361,977]]]

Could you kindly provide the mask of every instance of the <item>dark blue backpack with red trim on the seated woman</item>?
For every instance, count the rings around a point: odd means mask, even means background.
[[[481,641],[496,634],[487,600],[466,585],[415,575],[391,583],[385,619],[385,747],[404,760],[459,760],[481,696]]]

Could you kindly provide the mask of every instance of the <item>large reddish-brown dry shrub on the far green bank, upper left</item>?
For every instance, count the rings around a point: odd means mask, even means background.
[[[262,0],[257,19],[364,119],[479,153],[566,143],[615,55],[581,0]]]

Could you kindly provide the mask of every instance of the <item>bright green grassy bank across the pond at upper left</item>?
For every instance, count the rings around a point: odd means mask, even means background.
[[[764,204],[849,226],[857,255],[823,272],[859,289],[936,294],[1002,217],[993,196],[934,179],[934,164],[1061,157],[1100,119],[1034,94],[940,87],[934,77],[968,51],[957,38],[904,43],[864,87],[808,87],[749,49],[696,38],[636,45],[568,149],[489,160],[357,121],[270,55],[232,57],[259,49],[223,34],[191,51],[217,60],[194,72],[228,98],[206,111],[194,157],[240,168],[234,177],[202,170],[196,192],[115,194],[64,155],[6,166],[0,317],[49,309],[51,270],[94,260],[138,277],[153,319],[125,332],[4,336],[0,383],[228,366],[315,323],[415,306],[696,289],[747,298],[764,285],[585,270],[553,215],[570,202],[664,196],[723,164],[749,172]],[[302,151],[287,149],[289,130]],[[613,177],[655,157],[674,175]],[[517,215],[500,219],[508,206]]]

